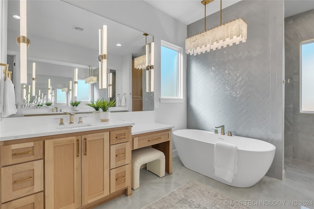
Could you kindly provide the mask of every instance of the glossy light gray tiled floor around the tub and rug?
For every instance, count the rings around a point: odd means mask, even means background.
[[[177,156],[173,158],[172,175],[166,173],[164,178],[159,178],[145,168],[141,169],[140,187],[132,190],[130,197],[120,196],[96,209],[140,209],[191,180],[209,186],[234,200],[241,200],[251,209],[301,209],[302,203],[307,204],[306,201],[312,201],[312,205],[302,209],[314,209],[314,163],[285,159],[285,169],[284,181],[265,176],[252,187],[237,188],[185,168]]]

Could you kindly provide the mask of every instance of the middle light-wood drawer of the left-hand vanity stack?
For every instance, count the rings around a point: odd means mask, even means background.
[[[42,191],[43,160],[1,168],[1,202]]]

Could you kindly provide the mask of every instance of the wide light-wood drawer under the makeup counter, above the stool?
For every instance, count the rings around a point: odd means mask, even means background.
[[[154,144],[169,141],[171,139],[170,131],[163,131],[158,133],[141,134],[133,136],[133,147],[132,149],[139,149],[142,147],[151,146]]]

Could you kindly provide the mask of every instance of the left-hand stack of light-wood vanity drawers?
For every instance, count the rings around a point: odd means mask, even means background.
[[[43,141],[0,146],[1,209],[43,209]]]

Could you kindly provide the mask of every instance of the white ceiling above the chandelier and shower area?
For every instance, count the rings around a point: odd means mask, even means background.
[[[184,24],[194,23],[204,18],[204,5],[201,0],[144,0],[167,15]],[[222,0],[226,8],[240,0]],[[314,9],[314,0],[285,0],[285,17]],[[220,0],[214,0],[206,6],[206,16],[220,10]]]

